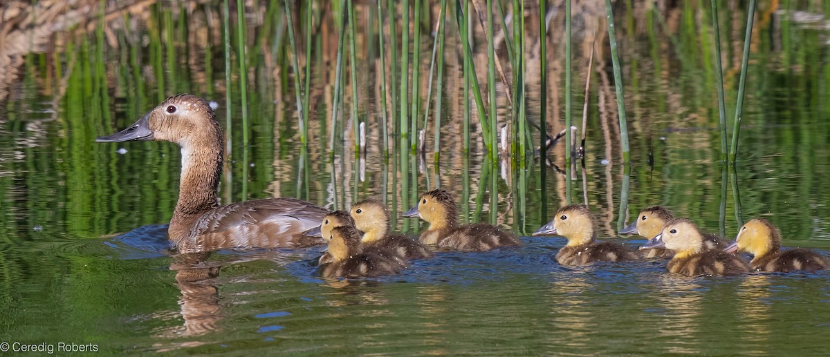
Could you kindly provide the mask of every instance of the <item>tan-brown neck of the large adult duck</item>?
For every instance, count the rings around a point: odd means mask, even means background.
[[[217,188],[222,176],[221,140],[182,145],[182,174],[173,220],[186,219],[219,205]]]

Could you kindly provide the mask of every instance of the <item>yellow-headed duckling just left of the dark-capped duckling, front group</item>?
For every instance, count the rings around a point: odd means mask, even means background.
[[[391,250],[398,257],[411,260],[432,257],[432,252],[405,235],[387,235],[389,211],[378,200],[363,200],[352,205],[351,216],[357,229],[364,232],[362,242],[366,247]]]

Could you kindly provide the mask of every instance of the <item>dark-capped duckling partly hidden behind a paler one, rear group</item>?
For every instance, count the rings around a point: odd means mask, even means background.
[[[657,234],[662,232],[663,226],[666,222],[674,220],[675,216],[671,210],[662,205],[652,205],[645,210],[640,211],[637,215],[637,220],[628,224],[625,228],[620,230],[619,234],[640,234],[642,238],[652,239]],[[716,234],[704,233],[703,244],[706,249],[721,249],[726,247],[726,242]],[[674,253],[667,249],[645,249],[643,252],[646,258],[671,258]]]

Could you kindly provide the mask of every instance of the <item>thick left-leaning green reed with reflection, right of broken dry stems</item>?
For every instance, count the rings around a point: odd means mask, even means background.
[[[623,95],[623,73],[620,70],[620,58],[617,51],[617,31],[614,30],[613,8],[611,0],[605,0],[605,17],[608,23],[608,41],[611,44],[611,61],[614,69],[614,88],[617,91],[617,112],[620,121],[620,147],[623,151],[623,187],[620,197],[617,229],[623,229],[625,211],[628,206],[628,179],[631,175],[631,157],[628,152],[628,127],[625,115],[625,96]],[[570,131],[569,128],[565,128]],[[567,132],[566,132],[567,133]]]

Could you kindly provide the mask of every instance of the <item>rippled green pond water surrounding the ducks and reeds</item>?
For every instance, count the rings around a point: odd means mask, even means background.
[[[62,27],[55,20],[51,28],[57,31],[38,32],[30,39],[34,50],[0,46],[6,60],[0,63],[7,64],[0,74],[0,340],[182,354],[818,355],[828,347],[818,338],[830,332],[828,273],[686,279],[664,274],[654,262],[574,270],[552,258],[563,239],[525,238],[522,248],[448,253],[419,262],[400,277],[335,284],[313,275],[310,261],[318,248],[171,257],[159,234],[163,228],[113,238],[169,220],[180,156],[166,142],[95,144],[95,137],[125,128],[181,92],[219,103],[217,116],[225,123],[220,5],[151,2],[105,8],[89,18],[66,10],[78,18],[61,20]],[[234,65],[232,180],[222,182],[223,200],[295,196],[334,208],[336,192],[340,207],[379,197],[400,211],[440,182],[469,198],[461,200],[463,222],[489,221],[526,234],[549,220],[542,197],[550,210],[562,205],[564,176],[532,162],[526,179],[518,179],[510,166],[486,160],[475,128],[470,157],[463,155],[458,51],[445,54],[440,166],[434,166],[432,152],[424,162],[419,156],[384,160],[378,54],[376,44],[366,40],[378,37],[376,4],[355,5],[359,18],[374,19],[358,22],[356,39],[358,117],[366,122],[368,155],[355,159],[352,152],[350,85],[344,86],[342,118],[336,128],[329,122],[339,28],[333,17],[340,10],[317,5],[313,10],[319,26],[308,59],[305,152],[281,2],[254,2],[246,9],[251,145],[242,145],[240,74]],[[734,105],[745,4],[729,1],[722,8],[726,100]],[[438,9],[425,9],[430,15],[415,28],[422,31],[427,52]],[[538,17],[535,7],[528,11]],[[612,237],[623,169],[603,11],[599,3],[574,5],[578,88],[594,37],[597,43],[588,96],[587,181],[574,181],[574,197],[579,200],[587,186],[600,234]],[[556,8],[552,15],[551,34],[564,33],[561,12]],[[784,245],[823,250],[830,249],[830,181],[823,181],[830,175],[830,101],[824,100],[830,84],[828,13],[823,2],[759,4],[737,167],[745,219],[764,216],[781,228]],[[722,167],[709,4],[661,3],[652,9],[650,3],[625,2],[618,14],[632,147],[628,212],[667,205],[718,231]],[[530,19],[529,26],[538,26]],[[447,48],[457,49],[452,25]],[[235,31],[234,21],[232,27]],[[302,28],[298,39],[305,38]],[[484,69],[485,41],[481,28],[475,31],[476,68]],[[539,118],[544,95],[550,133],[558,133],[564,127],[564,42],[549,36],[549,87],[540,89],[533,52],[539,37],[533,28],[528,33],[528,113]],[[235,41],[232,36],[234,49]],[[421,65],[425,71],[429,64]],[[483,80],[484,72],[478,78]],[[581,92],[574,93],[577,104],[584,99]],[[510,106],[501,89],[496,102],[503,125]],[[579,118],[581,105],[574,108]],[[425,129],[432,140],[432,128]],[[537,135],[532,142],[539,142]],[[243,165],[246,150],[251,162]],[[549,155],[564,166],[561,146]],[[400,175],[402,166],[407,175]],[[544,183],[540,170],[548,170]],[[246,182],[240,179],[243,171]],[[497,206],[491,204],[494,181]],[[732,212],[731,195],[726,205]],[[413,234],[422,227],[397,215],[393,223]],[[729,213],[725,233],[734,236],[737,228]]]

